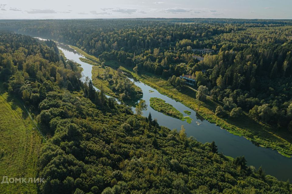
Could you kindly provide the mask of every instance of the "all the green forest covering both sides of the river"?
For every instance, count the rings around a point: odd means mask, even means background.
[[[241,108],[279,130],[291,130],[289,21],[0,23],[3,30],[118,61],[138,75],[150,72],[168,80],[194,74],[199,91],[194,98],[208,95],[222,102],[218,115],[230,111],[236,116]],[[193,59],[194,48],[215,52],[199,62]],[[226,157],[215,142],[187,137],[183,126],[179,131],[159,126],[151,114],[141,116],[144,105],[135,114],[80,78],[76,63],[65,60],[53,41],[0,33],[0,83],[28,107],[47,139],[37,165],[46,182],[38,184],[38,192],[291,193],[289,182],[248,166],[244,156]],[[172,84],[185,87],[183,81]]]

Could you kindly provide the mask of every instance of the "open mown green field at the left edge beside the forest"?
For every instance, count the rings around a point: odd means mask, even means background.
[[[42,138],[22,108],[0,84],[0,178],[36,177]],[[36,183],[3,183],[0,193],[37,193]]]

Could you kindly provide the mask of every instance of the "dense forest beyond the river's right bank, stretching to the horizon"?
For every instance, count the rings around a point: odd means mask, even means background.
[[[151,18],[1,22],[3,29],[76,45],[137,73],[151,72],[165,79],[191,74],[196,76],[196,87],[206,86],[210,96],[223,103],[217,115],[244,110],[291,132],[290,25],[290,20]],[[193,49],[203,48],[214,52],[199,62]],[[179,79],[172,83],[185,84]]]

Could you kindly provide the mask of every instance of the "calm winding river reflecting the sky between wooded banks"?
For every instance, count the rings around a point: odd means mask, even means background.
[[[64,52],[64,55],[67,59],[74,60],[81,65],[83,68],[82,74],[85,77],[92,77],[92,65],[82,62],[79,59],[80,57],[85,58],[83,55],[80,55],[78,52],[67,45],[58,44],[58,47]],[[275,176],[280,180],[292,180],[291,158],[286,158],[280,155],[276,150],[257,146],[244,137],[233,135],[228,131],[221,129],[219,126],[204,120],[200,115],[196,114],[195,111],[189,109],[180,102],[176,102],[175,100],[160,94],[157,90],[142,82],[139,82],[130,75],[127,76],[143,91],[143,99],[148,105],[148,109],[143,112],[144,116],[148,116],[149,112],[151,112],[152,118],[158,119],[159,125],[166,126],[169,129],[178,129],[179,131],[181,125],[184,125],[186,134],[188,136],[193,136],[198,141],[203,143],[215,141],[216,145],[218,146],[218,151],[222,152],[224,155],[231,156],[233,158],[237,156],[245,156],[246,160],[248,161],[248,165],[255,166],[255,168],[262,166],[267,174]],[[96,90],[98,89],[96,88]],[[150,90],[153,92],[149,92]],[[165,100],[165,102],[171,104],[185,116],[187,115],[183,111],[190,111],[191,115],[189,116],[193,119],[193,122],[188,124],[186,121],[181,121],[179,119],[175,119],[155,111],[150,107],[149,100],[151,97],[157,97]]]

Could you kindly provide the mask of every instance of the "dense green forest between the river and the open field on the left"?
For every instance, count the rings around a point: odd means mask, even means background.
[[[214,142],[186,137],[183,126],[171,131],[96,92],[52,41],[1,32],[0,75],[48,139],[40,193],[291,193],[243,156],[225,157]]]

